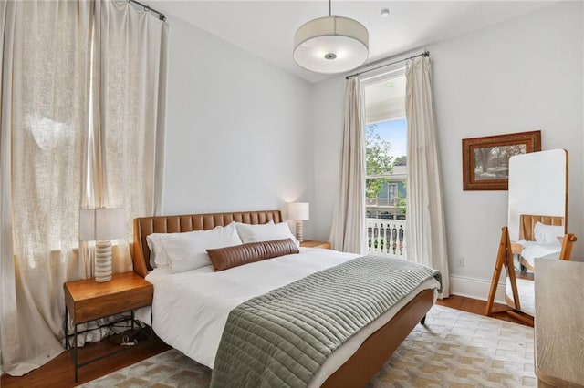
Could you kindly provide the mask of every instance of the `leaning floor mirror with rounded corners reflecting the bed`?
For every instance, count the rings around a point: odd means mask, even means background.
[[[513,268],[507,269],[507,304],[535,315],[535,258],[558,260],[568,230],[568,152],[533,152],[509,159],[507,228]],[[515,270],[516,293],[509,271]]]

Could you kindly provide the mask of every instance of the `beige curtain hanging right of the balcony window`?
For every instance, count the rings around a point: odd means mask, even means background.
[[[432,61],[420,56],[406,64],[408,122],[407,257],[440,271],[441,298],[450,293],[442,179],[433,105]]]

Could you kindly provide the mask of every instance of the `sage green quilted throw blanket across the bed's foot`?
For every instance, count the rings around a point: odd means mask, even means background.
[[[364,256],[245,301],[229,313],[211,387],[306,387],[328,356],[440,272]]]

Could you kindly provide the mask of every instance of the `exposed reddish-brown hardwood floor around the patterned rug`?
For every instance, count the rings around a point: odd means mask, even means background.
[[[475,299],[464,298],[461,296],[451,296],[448,299],[436,301],[436,304],[457,310],[474,312],[475,314],[480,315],[485,313],[486,306],[485,301],[477,301]],[[492,317],[508,322],[525,324],[524,322],[507,315],[507,310],[509,310],[509,308],[506,305],[495,303],[493,309],[495,312],[492,314]],[[87,359],[112,352],[112,349],[115,350],[117,348],[119,348],[118,345],[112,345],[108,340],[103,340],[101,342],[89,344],[81,349],[79,354],[81,358]],[[153,345],[151,342],[141,341],[137,345],[131,347],[127,352],[120,352],[79,368],[78,384],[87,383],[91,380],[97,379],[99,376],[117,371],[125,366],[131,365],[132,363],[140,362],[141,360],[147,359],[155,354],[165,352],[168,349],[170,349],[170,347],[160,340],[156,340]],[[22,377],[2,376],[0,386],[3,388],[73,387],[76,385],[74,383],[74,372],[70,352],[63,352],[51,362],[47,362],[47,364]]]

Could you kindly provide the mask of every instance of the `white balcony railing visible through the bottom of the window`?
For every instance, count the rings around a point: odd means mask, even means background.
[[[405,259],[405,220],[366,219],[368,253]]]

